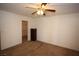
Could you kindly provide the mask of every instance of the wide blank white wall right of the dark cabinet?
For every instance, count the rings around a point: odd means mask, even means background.
[[[39,41],[79,51],[79,13],[34,19]]]

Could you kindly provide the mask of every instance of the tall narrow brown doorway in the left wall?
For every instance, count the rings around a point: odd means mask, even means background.
[[[22,21],[22,43],[28,40],[28,21]]]

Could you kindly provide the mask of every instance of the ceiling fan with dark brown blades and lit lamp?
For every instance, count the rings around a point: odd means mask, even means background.
[[[55,9],[49,9],[49,8],[46,8],[46,6],[47,6],[47,3],[41,3],[39,7],[26,7],[26,8],[34,8],[34,9],[36,9],[36,11],[34,11],[32,13],[32,15],[38,14],[38,15],[44,15],[45,16],[46,11],[54,12],[54,13],[56,12]]]

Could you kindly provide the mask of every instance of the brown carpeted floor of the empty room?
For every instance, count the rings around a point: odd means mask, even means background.
[[[78,51],[39,41],[24,42],[0,52],[3,56],[79,56]]]

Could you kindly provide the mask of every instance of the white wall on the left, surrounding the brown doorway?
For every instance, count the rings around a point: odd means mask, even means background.
[[[22,43],[22,20],[30,21],[27,17],[0,11],[1,50]]]

